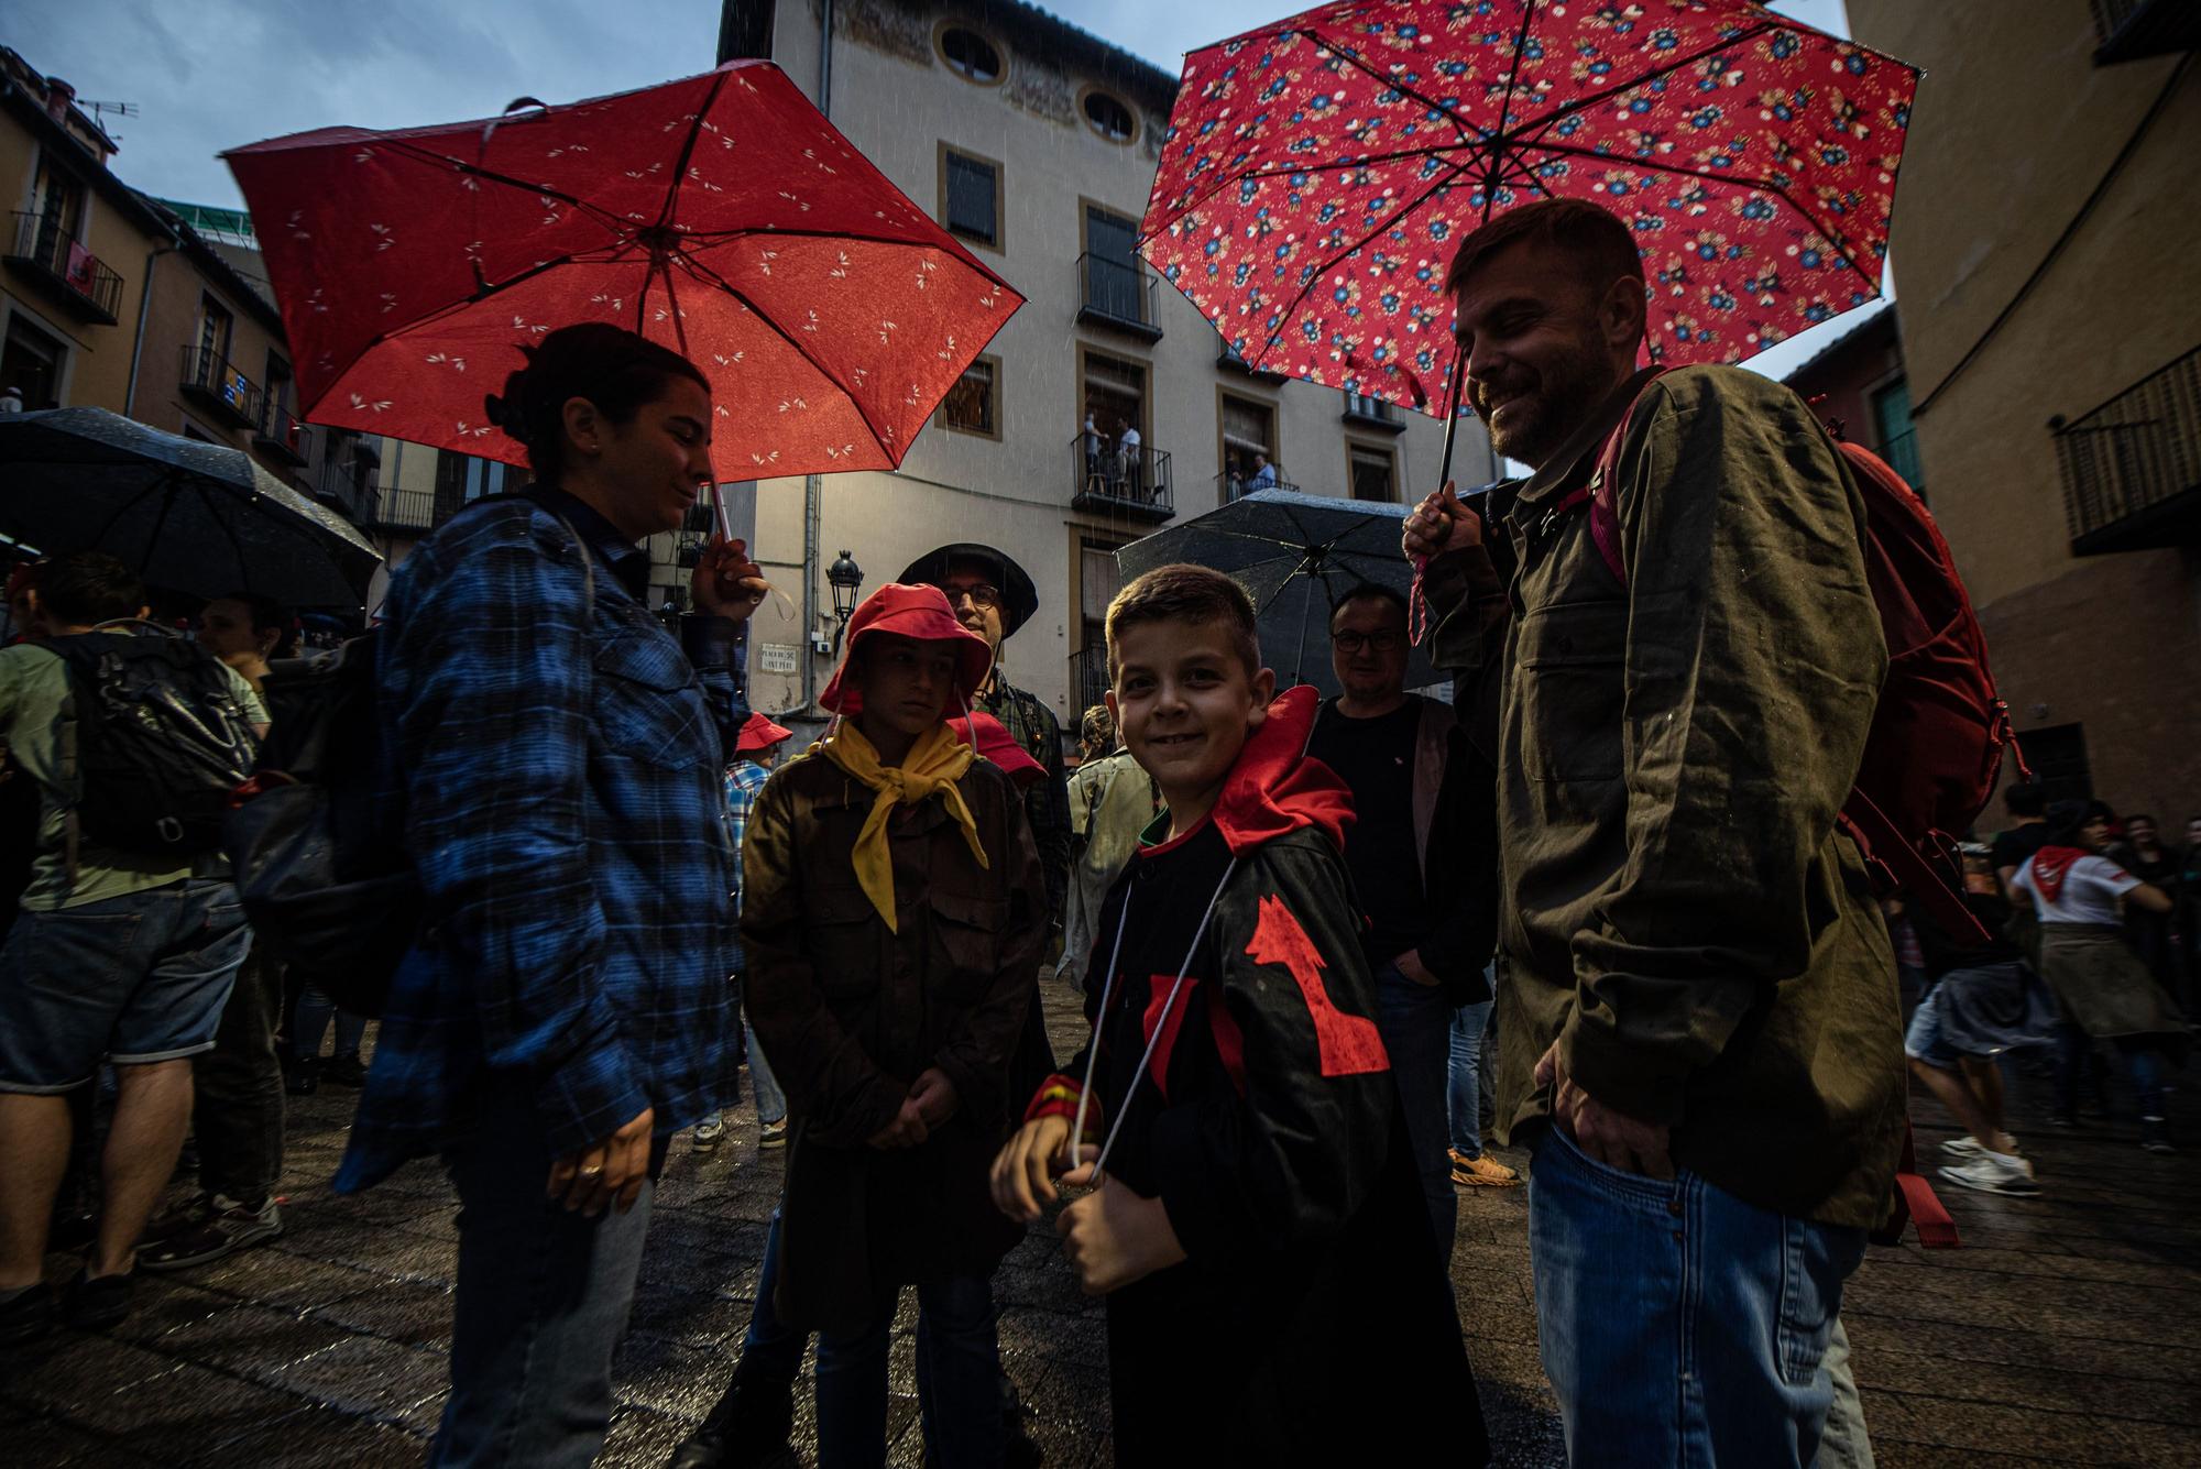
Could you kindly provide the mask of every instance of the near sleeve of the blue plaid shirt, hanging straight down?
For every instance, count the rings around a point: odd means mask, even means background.
[[[581,567],[519,532],[416,585],[392,651],[407,671],[405,847],[473,987],[486,1062],[526,1071],[550,1150],[577,1152],[649,1106],[596,983]]]

